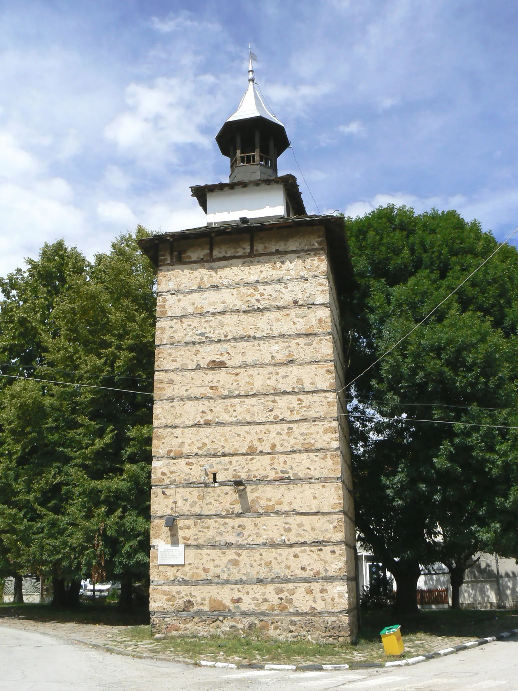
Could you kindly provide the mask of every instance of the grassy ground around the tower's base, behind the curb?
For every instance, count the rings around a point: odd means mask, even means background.
[[[81,633],[81,638],[111,644],[130,652],[145,652],[169,659],[196,661],[200,659],[233,663],[371,663],[388,659],[383,651],[379,632],[383,627],[399,623],[405,643],[401,656],[416,655],[441,650],[445,647],[472,641],[474,638],[518,628],[518,610],[461,609],[425,610],[413,617],[398,617],[390,609],[363,612],[358,641],[351,645],[320,645],[311,641],[277,641],[257,631],[236,632],[223,636],[166,636],[155,639],[149,626],[149,613],[135,607],[122,612],[116,603],[103,600],[82,603],[77,609],[54,609],[50,605],[0,604],[1,618],[20,618],[41,623],[78,623],[91,625]],[[95,624],[113,627],[106,633]],[[104,636],[101,640],[99,636]],[[107,638],[106,638],[107,636]]]

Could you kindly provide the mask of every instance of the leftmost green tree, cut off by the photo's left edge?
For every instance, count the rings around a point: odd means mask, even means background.
[[[46,334],[55,333],[55,304],[86,269],[84,257],[62,241],[45,245],[39,259],[27,264],[25,272],[17,269],[0,281],[0,540],[3,569],[20,583],[23,572],[40,566],[36,552],[43,524],[35,503],[37,484],[44,493],[39,503],[60,513],[59,482],[46,472],[49,463],[58,466],[59,455],[52,460],[46,438],[47,391],[36,382],[17,384],[11,377],[30,375],[44,363]],[[56,536],[64,537],[64,532],[58,529]]]

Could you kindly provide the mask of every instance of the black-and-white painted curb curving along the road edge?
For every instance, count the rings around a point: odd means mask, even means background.
[[[81,645],[89,645],[90,647],[99,648],[99,650],[104,650],[105,652],[115,653],[117,655],[125,655],[127,657],[136,657],[142,660],[160,660],[162,662],[176,662],[182,664],[195,664],[200,665],[200,667],[213,667],[213,668],[225,668],[227,670],[271,670],[271,671],[282,671],[282,670],[325,670],[327,672],[332,672],[334,670],[362,670],[367,668],[383,668],[383,667],[407,667],[407,665],[417,665],[421,662],[426,662],[427,660],[432,660],[434,658],[445,657],[448,655],[456,654],[461,652],[461,650],[470,650],[474,647],[479,647],[479,645],[486,645],[486,643],[492,643],[493,641],[503,641],[504,638],[509,638],[509,636],[516,636],[518,634],[518,629],[512,629],[511,631],[506,631],[496,636],[487,636],[487,638],[477,638],[476,641],[468,641],[468,643],[461,643],[460,645],[454,645],[454,647],[444,648],[443,650],[436,650],[435,652],[429,652],[425,655],[418,655],[416,657],[406,658],[404,660],[394,660],[393,662],[365,662],[365,663],[352,663],[351,665],[318,665],[318,664],[306,664],[306,665],[276,665],[271,663],[241,663],[240,665],[235,665],[231,662],[215,662],[212,660],[189,660],[184,658],[171,658],[166,655],[151,655],[148,653],[141,652],[131,652],[131,650],[124,650],[124,648],[115,647],[113,645],[103,645],[102,643],[92,643],[91,641],[84,641],[81,638],[69,638],[68,640],[74,643],[81,643]]]

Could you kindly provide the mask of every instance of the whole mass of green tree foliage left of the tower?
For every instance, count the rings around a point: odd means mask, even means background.
[[[46,244],[0,282],[3,574],[147,574],[155,295],[135,243],[147,234],[93,263]]]

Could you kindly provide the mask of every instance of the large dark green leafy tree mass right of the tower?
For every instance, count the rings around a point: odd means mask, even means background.
[[[497,243],[455,211],[388,206],[346,225],[352,380]],[[516,424],[517,289],[505,246],[349,389],[358,530],[394,575],[401,612],[417,609],[420,564],[458,571],[477,549],[518,554],[516,430],[475,426]]]

